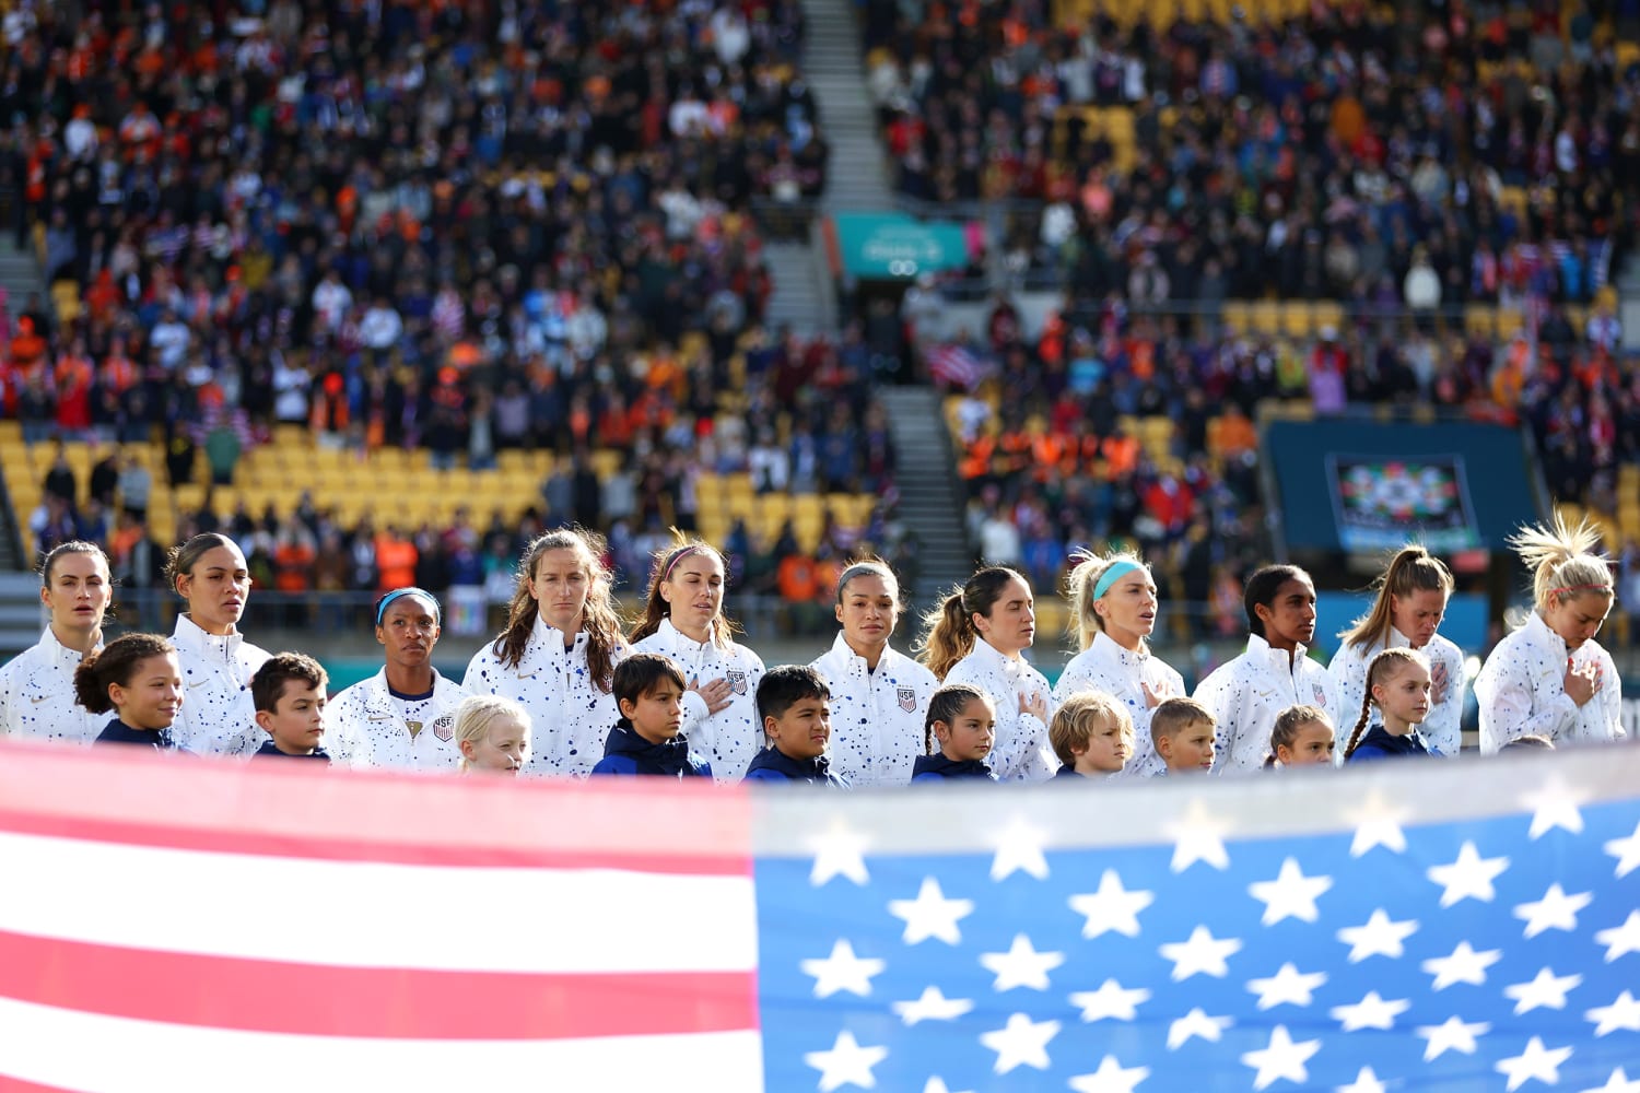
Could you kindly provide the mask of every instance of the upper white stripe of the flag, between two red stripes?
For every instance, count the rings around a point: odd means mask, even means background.
[[[330,862],[0,832],[5,877],[51,883],[5,885],[0,931],[130,949],[456,972],[758,964],[751,877]],[[679,921],[679,908],[704,913]]]

